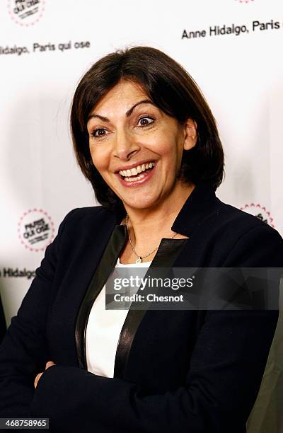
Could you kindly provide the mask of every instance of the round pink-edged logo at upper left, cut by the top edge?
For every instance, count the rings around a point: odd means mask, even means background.
[[[45,0],[8,0],[8,13],[18,25],[35,25],[45,11]]]

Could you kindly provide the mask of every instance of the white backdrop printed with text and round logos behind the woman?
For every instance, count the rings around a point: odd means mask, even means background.
[[[120,47],[156,47],[190,72],[224,144],[219,198],[283,234],[282,42],[280,0],[1,1],[0,289],[7,323],[64,215],[95,203],[74,161],[69,107],[83,73]],[[250,432],[283,432],[282,361],[278,330]]]

